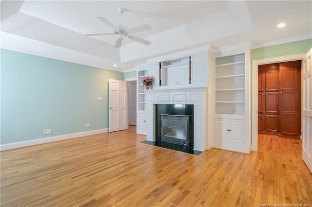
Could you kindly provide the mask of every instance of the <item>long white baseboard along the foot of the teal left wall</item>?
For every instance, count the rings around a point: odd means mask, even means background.
[[[8,143],[8,144],[0,144],[0,151],[12,150],[12,149],[17,149],[21,147],[28,147],[32,145],[44,144],[44,143],[60,141],[60,140],[65,140],[65,139],[70,139],[70,138],[79,138],[83,136],[96,135],[96,134],[105,133],[105,132],[108,132],[108,128],[97,129],[97,130],[86,131],[86,132],[78,132],[78,133],[60,135],[60,136],[54,136],[54,137],[48,137],[48,138],[38,138],[38,139],[31,139],[27,141],[18,141],[18,142],[13,142],[13,143]]]

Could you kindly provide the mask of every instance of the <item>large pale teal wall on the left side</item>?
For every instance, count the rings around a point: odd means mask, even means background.
[[[123,72],[0,52],[1,144],[108,128],[108,79]]]

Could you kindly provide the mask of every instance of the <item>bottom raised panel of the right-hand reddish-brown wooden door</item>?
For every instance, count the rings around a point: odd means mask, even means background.
[[[283,135],[298,135],[298,115],[294,113],[280,114],[280,133]]]

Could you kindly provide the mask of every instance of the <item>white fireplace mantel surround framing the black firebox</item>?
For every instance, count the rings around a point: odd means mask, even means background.
[[[162,86],[144,92],[147,94],[147,140],[156,140],[155,104],[194,104],[194,150],[212,147],[212,140],[208,139],[208,87]]]

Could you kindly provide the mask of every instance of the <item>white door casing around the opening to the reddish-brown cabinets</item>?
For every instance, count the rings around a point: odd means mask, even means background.
[[[258,60],[252,61],[252,71],[251,71],[252,72],[252,91],[251,91],[252,92],[252,120],[251,120],[252,121],[252,129],[251,129],[252,151],[254,152],[258,151],[258,65],[302,60],[305,55],[306,53],[300,53],[300,54],[264,58],[264,59],[258,59]],[[302,79],[302,64],[301,64],[300,78]],[[302,90],[302,86],[301,86],[301,90]],[[301,97],[300,103],[302,103],[302,99],[303,97]],[[301,131],[302,130],[300,130],[300,140],[302,140]]]

